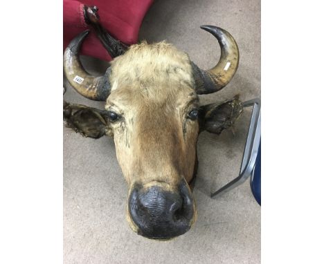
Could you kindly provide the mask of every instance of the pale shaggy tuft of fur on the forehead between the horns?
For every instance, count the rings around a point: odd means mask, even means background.
[[[132,89],[159,101],[179,96],[180,91],[188,94],[195,85],[188,55],[165,42],[131,46],[111,63],[110,82],[112,93]]]

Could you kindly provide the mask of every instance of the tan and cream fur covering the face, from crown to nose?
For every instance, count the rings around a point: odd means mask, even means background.
[[[187,118],[198,107],[188,55],[165,42],[143,42],[114,59],[110,81],[105,108],[123,116],[111,131],[129,189],[163,182],[175,190],[182,178],[190,181],[199,125]]]

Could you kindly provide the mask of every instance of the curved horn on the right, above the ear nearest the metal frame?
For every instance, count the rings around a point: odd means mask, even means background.
[[[235,75],[240,53],[235,40],[226,30],[216,26],[201,26],[200,28],[216,37],[221,48],[221,56],[218,64],[210,70],[201,70],[191,62],[196,91],[198,94],[215,93],[224,88]]]

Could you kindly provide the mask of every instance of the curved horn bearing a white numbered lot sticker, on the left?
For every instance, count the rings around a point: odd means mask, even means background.
[[[110,68],[103,76],[90,75],[84,70],[78,56],[82,41],[88,33],[89,30],[80,33],[67,46],[63,59],[64,73],[78,93],[90,100],[105,101],[110,93]]]

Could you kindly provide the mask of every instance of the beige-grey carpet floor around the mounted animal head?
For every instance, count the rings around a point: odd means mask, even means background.
[[[147,13],[140,39],[167,40],[185,50],[201,68],[219,58],[217,41],[200,25],[225,28],[240,48],[240,66],[223,91],[201,96],[201,104],[260,96],[260,1],[158,0]],[[92,72],[105,62],[82,58]],[[69,102],[102,108],[69,86]],[[125,218],[127,186],[114,142],[82,138],[64,128],[64,263],[260,263],[260,206],[249,181],[216,200],[210,192],[235,178],[240,169],[249,111],[235,133],[201,133],[194,196],[198,220],[190,232],[169,242],[150,241],[132,232]]]

